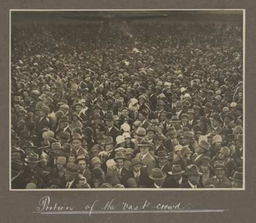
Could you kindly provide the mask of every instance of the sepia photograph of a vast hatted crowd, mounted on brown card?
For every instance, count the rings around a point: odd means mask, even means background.
[[[244,10],[10,10],[10,190],[243,190]]]

